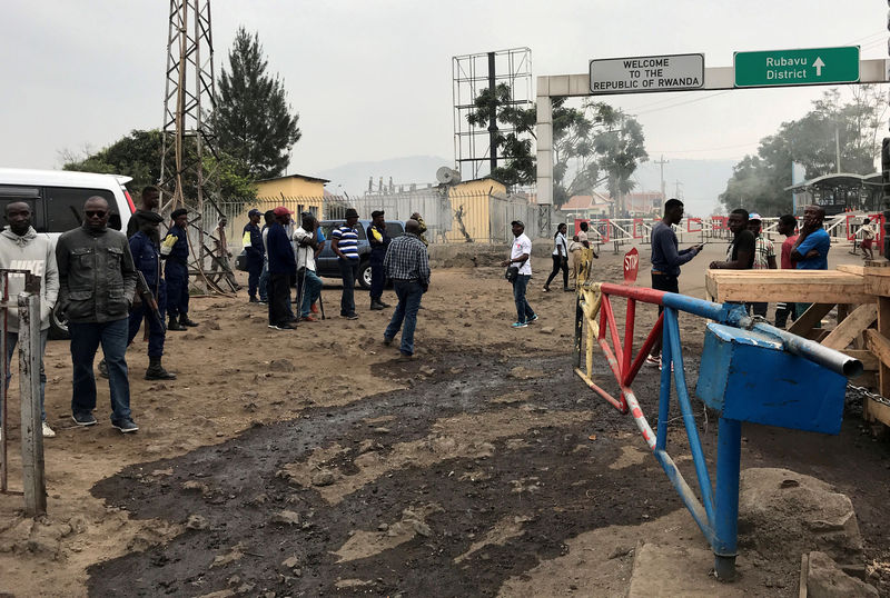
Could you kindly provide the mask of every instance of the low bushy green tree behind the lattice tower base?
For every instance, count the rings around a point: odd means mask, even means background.
[[[107,148],[87,156],[77,157],[63,152],[62,169],[132,177],[129,187],[138,192],[142,187],[157,185],[160,180],[162,147],[164,137],[159,129],[132,130]],[[194,162],[197,159],[194,138],[187,138],[185,153],[186,162]],[[218,158],[215,158],[209,152],[204,152],[205,172],[217,173],[216,187],[207,190],[227,200],[254,201],[257,191],[253,181],[239,173],[244,167],[227,153],[217,153]],[[186,180],[185,186],[187,199],[197,197],[196,180]]]

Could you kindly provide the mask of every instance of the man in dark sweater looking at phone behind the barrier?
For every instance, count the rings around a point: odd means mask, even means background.
[[[683,219],[683,202],[669,199],[664,202],[664,217],[652,227],[652,288],[668,292],[680,292],[680,267],[699,255],[704,247],[695,245],[678,250],[676,235],[671,228]],[[662,312],[659,307],[659,315]],[[655,340],[646,357],[646,365],[661,368],[661,337]]]

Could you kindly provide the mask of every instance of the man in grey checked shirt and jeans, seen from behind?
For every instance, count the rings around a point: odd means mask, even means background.
[[[405,235],[396,237],[389,243],[383,266],[386,277],[393,280],[393,289],[398,297],[398,305],[393,319],[383,333],[384,345],[392,345],[404,321],[402,359],[414,356],[414,329],[417,326],[417,310],[421,299],[429,288],[429,256],[426,245],[421,240],[421,225],[417,220],[405,222]]]

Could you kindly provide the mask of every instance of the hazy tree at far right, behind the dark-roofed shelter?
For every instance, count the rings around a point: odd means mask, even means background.
[[[860,86],[847,103],[841,102],[838,90],[829,90],[812,106],[802,118],[783,122],[779,131],[761,139],[755,156],[745,156],[735,165],[720,195],[726,210],[743,207],[764,216],[790,212],[791,192],[784,189],[791,186],[792,162],[803,165],[808,179],[838,170],[874,171],[878,132],[888,108],[876,86]]]

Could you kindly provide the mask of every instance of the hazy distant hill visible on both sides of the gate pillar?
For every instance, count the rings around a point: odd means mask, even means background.
[[[680,196],[686,203],[686,212],[693,216],[709,216],[718,206],[716,198],[726,188],[726,181],[732,177],[732,167],[735,160],[675,160],[669,158],[664,165],[664,182],[668,197],[676,195],[675,181],[680,181]],[[313,176],[330,179],[327,190],[339,193],[342,186],[350,196],[360,196],[368,188],[368,178],[374,180],[377,189],[380,177],[384,185],[417,183],[423,187],[435,182],[436,170],[443,166],[453,166],[449,158],[436,156],[407,156],[387,160],[368,162],[349,162],[328,170],[313,172]],[[643,162],[637,168],[635,180],[639,182],[636,191],[657,191],[661,189],[661,170],[659,165]]]

